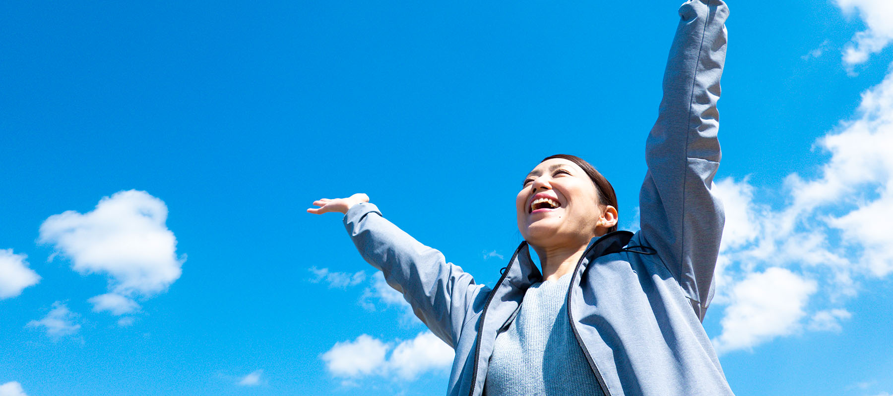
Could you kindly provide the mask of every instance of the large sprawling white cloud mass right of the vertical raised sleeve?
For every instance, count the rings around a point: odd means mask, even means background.
[[[748,349],[797,330],[840,331],[850,316],[841,305],[860,281],[893,273],[893,72],[816,147],[830,154],[817,177],[792,173],[771,193],[748,178],[714,185],[726,209],[715,278],[714,304],[727,305],[718,350]],[[761,310],[743,297],[769,275],[787,279],[796,304]],[[810,287],[804,279],[812,279]],[[817,298],[804,300],[812,294]],[[789,316],[778,317],[780,309]],[[778,326],[752,326],[761,316]]]

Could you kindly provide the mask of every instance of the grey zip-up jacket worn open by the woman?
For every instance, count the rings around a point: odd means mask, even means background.
[[[724,221],[711,187],[729,12],[721,0],[692,0],[679,13],[660,113],[647,138],[641,229],[589,243],[567,294],[567,320],[605,395],[732,394],[701,325]],[[497,334],[527,288],[542,281],[527,243],[490,288],[371,203],[352,207],[344,222],[363,258],[455,349],[447,394],[480,395]]]

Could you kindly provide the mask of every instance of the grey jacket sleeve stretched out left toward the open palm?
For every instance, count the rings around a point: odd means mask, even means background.
[[[347,234],[388,285],[403,293],[415,316],[431,333],[455,348],[465,314],[483,285],[381,216],[371,203],[359,203],[344,217]]]

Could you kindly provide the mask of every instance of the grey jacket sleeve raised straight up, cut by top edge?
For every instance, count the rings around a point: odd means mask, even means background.
[[[729,9],[722,0],[691,0],[679,14],[638,199],[643,242],[657,251],[703,320],[725,219],[711,188],[721,157],[716,101]]]

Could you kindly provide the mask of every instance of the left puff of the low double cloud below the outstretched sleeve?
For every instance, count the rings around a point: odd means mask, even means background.
[[[321,355],[321,359],[335,376],[371,375],[382,369],[387,352],[387,344],[360,334],[353,342],[336,342],[332,349]]]

